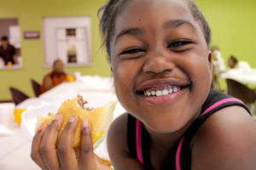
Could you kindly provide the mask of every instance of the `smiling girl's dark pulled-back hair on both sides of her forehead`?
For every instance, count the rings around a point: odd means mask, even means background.
[[[209,46],[211,42],[211,29],[205,19],[204,15],[201,13],[201,10],[195,4],[194,0],[183,0],[189,7],[190,13],[193,15],[194,19],[199,22],[202,30],[204,31],[204,36]],[[120,13],[122,8],[125,6],[125,3],[129,0],[109,0],[102,8],[98,11],[98,16],[102,13],[100,17],[100,28],[102,31],[102,45],[105,45],[108,53],[108,60],[110,61],[110,41],[113,36],[114,22],[117,15]]]

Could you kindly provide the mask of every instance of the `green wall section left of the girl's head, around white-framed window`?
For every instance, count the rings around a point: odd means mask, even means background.
[[[66,68],[68,73],[81,71],[82,75],[101,75],[107,77],[109,69],[106,55],[101,49],[101,36],[98,29],[97,10],[104,0],[8,0],[1,1],[0,18],[18,18],[21,36],[23,31],[40,31],[39,40],[21,40],[23,68],[20,70],[0,70],[0,100],[11,99],[9,86],[19,88],[33,96],[30,78],[41,82],[44,74],[50,71],[44,68],[44,16],[90,16],[92,34],[93,65]]]

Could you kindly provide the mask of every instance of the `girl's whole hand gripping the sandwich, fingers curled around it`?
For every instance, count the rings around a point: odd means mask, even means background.
[[[81,123],[81,148],[79,159],[73,150],[74,134],[78,118],[71,116],[61,133],[58,148],[55,147],[57,135],[61,128],[62,116],[46,127],[45,123],[38,128],[32,141],[32,160],[44,170],[110,170],[111,168],[93,153],[93,144],[88,121]]]

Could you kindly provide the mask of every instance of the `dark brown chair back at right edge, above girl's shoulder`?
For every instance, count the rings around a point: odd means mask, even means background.
[[[248,88],[246,85],[236,82],[232,79],[226,79],[228,94],[241,99],[246,105],[253,104],[256,100],[256,93],[253,89]]]

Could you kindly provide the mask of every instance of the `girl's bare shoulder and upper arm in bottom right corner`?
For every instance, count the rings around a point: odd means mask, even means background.
[[[254,169],[255,144],[253,117],[241,106],[224,108],[196,132],[191,146],[191,169]]]

